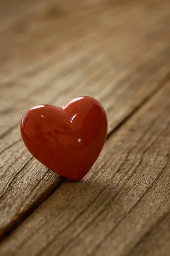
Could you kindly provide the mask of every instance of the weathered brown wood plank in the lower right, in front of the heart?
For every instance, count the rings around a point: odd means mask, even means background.
[[[154,227],[170,212],[169,99],[170,81],[109,137],[91,172],[63,183],[2,242],[0,253],[138,255],[131,253],[147,233],[159,239]]]

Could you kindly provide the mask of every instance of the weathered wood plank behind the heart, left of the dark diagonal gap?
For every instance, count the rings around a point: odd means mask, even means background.
[[[0,25],[1,237],[62,182],[25,149],[22,113],[90,95],[104,105],[111,132],[161,88],[170,66],[167,1],[152,9],[151,0],[85,11],[80,4],[75,12],[69,5],[55,12],[58,6],[45,2]]]

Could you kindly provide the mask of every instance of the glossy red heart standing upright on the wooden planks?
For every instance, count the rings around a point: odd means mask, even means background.
[[[108,123],[102,105],[88,96],[62,108],[37,105],[21,119],[20,131],[30,153],[43,165],[80,180],[94,165],[106,140]]]

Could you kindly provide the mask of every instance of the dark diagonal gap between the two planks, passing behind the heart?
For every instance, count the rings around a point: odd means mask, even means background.
[[[155,88],[155,90],[150,93],[150,95],[148,95],[131,113],[129,113],[129,115],[127,115],[127,117],[125,119],[122,120],[122,122],[120,122],[112,131],[110,131],[108,133],[107,136],[107,140],[109,137],[111,137],[111,135],[116,132],[119,128],[122,127],[122,125],[125,124],[125,122],[127,122],[133,115],[136,114],[136,112],[139,111],[140,108],[142,108],[156,93],[159,92],[159,90],[161,90],[164,85],[166,85],[166,83],[170,81],[170,72],[168,72],[163,79],[161,79],[161,81],[159,81],[158,86]],[[31,157],[32,159],[33,157]],[[30,159],[30,160],[31,160]],[[29,160],[29,161],[30,161]],[[24,166],[25,167],[25,166]],[[23,167],[23,168],[24,168]],[[21,169],[22,170],[22,169]],[[24,221],[26,218],[28,218],[28,216],[34,212],[35,209],[37,209],[37,207],[40,206],[40,204],[42,204],[42,202],[44,202],[50,195],[52,195],[61,185],[62,183],[64,183],[66,181],[66,178],[64,177],[60,177],[59,182],[57,183],[57,186],[54,186],[52,188],[49,188],[49,192],[46,192],[46,197],[43,197],[41,195],[41,197],[39,199],[37,199],[37,201],[28,209],[26,209],[25,212],[22,213],[21,217],[17,219],[17,223],[15,222],[15,224],[11,223],[11,227],[9,227],[8,229],[6,229],[4,235],[1,237],[0,241],[4,239],[4,237],[8,236],[14,229],[17,228],[18,225],[21,224],[22,221]],[[16,221],[16,220],[14,220]]]

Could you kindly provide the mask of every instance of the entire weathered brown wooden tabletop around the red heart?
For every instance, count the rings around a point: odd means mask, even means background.
[[[169,256],[170,2],[0,7],[0,255]],[[74,183],[31,157],[19,124],[80,95],[99,99],[109,128]]]

